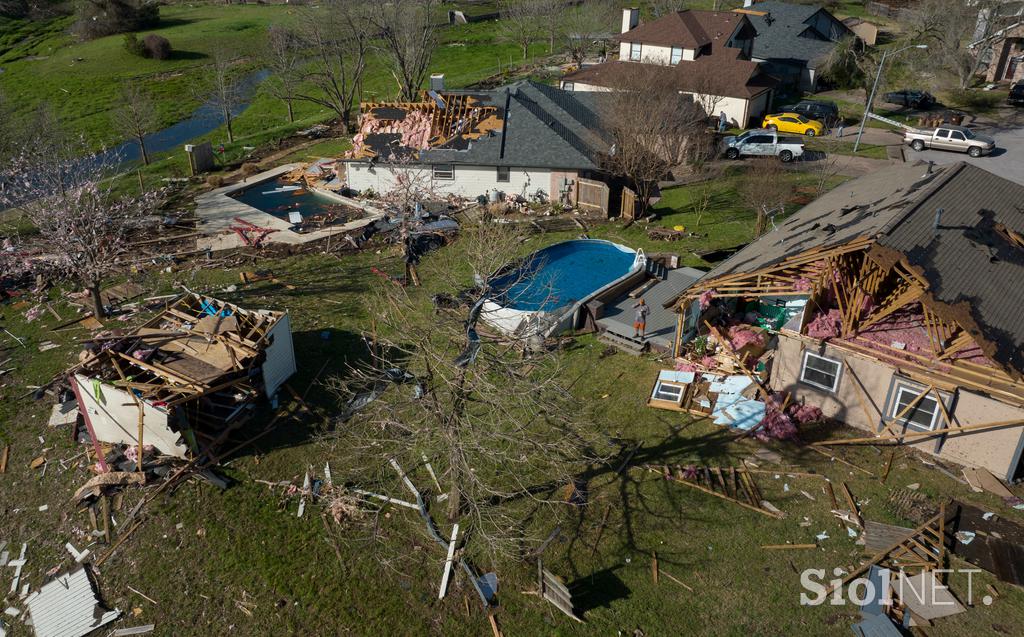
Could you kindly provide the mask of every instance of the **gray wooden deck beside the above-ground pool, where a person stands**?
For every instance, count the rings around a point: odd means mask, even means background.
[[[650,307],[647,314],[647,342],[659,349],[672,349],[673,335],[676,332],[675,311],[663,304],[680,292],[693,285],[706,272],[692,268],[680,267],[669,270],[665,281],[658,282],[644,292],[640,298]],[[633,336],[633,305],[639,299],[630,298],[629,294],[606,303],[604,315],[597,321],[604,330],[627,339]]]

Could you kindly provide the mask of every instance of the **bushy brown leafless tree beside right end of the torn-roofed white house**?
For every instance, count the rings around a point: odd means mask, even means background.
[[[691,97],[659,82],[657,70],[636,66],[606,96],[601,126],[611,141],[606,170],[632,182],[646,211],[657,181],[686,163],[688,144],[703,134],[707,117]]]

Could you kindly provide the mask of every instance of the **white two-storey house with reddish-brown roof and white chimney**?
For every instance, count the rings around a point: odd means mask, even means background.
[[[761,121],[777,84],[751,59],[757,32],[732,11],[673,11],[640,24],[640,10],[623,9],[618,59],[565,75],[561,87],[584,93],[623,86],[637,65],[656,81],[692,95],[710,117],[725,113],[735,126]]]

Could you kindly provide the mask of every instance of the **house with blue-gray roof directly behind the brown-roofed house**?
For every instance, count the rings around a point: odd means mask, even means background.
[[[818,70],[836,44],[853,31],[820,6],[768,0],[735,9],[750,18],[757,31],[751,59],[783,86],[815,91]]]

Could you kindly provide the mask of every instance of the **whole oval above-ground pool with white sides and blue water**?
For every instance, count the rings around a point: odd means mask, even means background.
[[[494,294],[483,319],[510,334],[567,329],[585,302],[638,272],[643,259],[642,253],[597,239],[549,246],[490,282]]]

